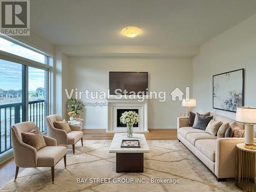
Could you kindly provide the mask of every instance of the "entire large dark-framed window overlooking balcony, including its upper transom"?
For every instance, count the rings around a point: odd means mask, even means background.
[[[12,124],[33,121],[47,131],[49,55],[14,42],[0,37],[0,157],[12,150]]]

